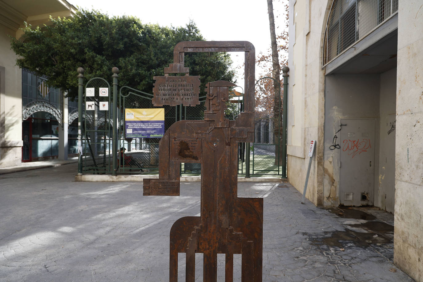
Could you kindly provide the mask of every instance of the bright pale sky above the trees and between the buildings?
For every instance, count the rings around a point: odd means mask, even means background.
[[[131,15],[143,23],[185,26],[192,19],[206,40],[250,41],[256,56],[270,49],[269,16],[266,0],[68,0],[74,6],[100,10],[110,16]],[[275,25],[283,26],[283,6],[273,1]],[[280,21],[280,22],[278,22]],[[233,67],[244,63],[244,54],[231,53]],[[237,85],[244,87],[243,71],[238,69]],[[261,71],[256,66],[256,77]],[[238,90],[239,91],[239,90]]]

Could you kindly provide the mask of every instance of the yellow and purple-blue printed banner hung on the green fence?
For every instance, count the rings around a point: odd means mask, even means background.
[[[125,109],[125,138],[161,138],[165,109]]]

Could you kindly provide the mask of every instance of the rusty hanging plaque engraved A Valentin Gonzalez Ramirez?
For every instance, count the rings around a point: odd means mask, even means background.
[[[153,77],[154,106],[199,105],[200,76]]]

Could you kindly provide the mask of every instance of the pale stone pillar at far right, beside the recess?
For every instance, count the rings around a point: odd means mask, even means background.
[[[423,5],[399,1],[394,263],[423,280]]]

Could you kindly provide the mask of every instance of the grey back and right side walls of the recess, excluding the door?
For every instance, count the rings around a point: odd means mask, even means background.
[[[376,121],[373,146],[375,168],[370,202],[394,211],[396,68],[382,74],[332,74],[325,79],[324,205],[340,202],[341,119]],[[347,122],[348,123],[348,122]],[[357,175],[357,177],[359,177]],[[346,192],[346,191],[345,191]],[[356,193],[360,193],[357,187]]]

